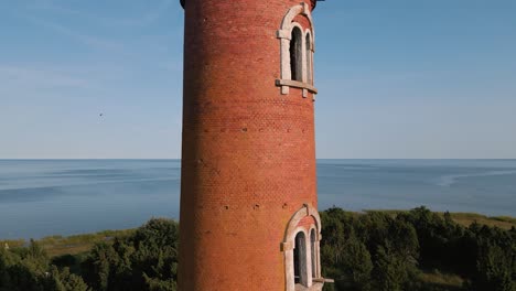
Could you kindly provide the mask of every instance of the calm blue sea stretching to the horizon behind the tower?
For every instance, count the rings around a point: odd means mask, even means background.
[[[516,160],[319,160],[320,209],[516,216]],[[179,217],[179,160],[0,160],[0,238]]]

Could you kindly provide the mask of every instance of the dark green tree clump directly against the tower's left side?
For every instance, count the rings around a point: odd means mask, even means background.
[[[82,266],[95,290],[175,290],[179,225],[151,219],[112,245],[99,244]]]

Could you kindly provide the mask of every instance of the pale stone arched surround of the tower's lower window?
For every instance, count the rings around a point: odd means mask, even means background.
[[[307,233],[307,228],[298,226],[299,223],[305,218],[307,216],[311,216],[315,222],[314,225],[309,227],[309,231]],[[310,242],[310,231],[311,229],[315,229],[315,258],[316,258],[316,270],[312,270],[312,262],[311,262],[311,242]],[[284,278],[286,278],[286,290],[287,291],[294,291],[295,290],[295,280],[294,280],[294,266],[293,266],[293,248],[295,246],[295,235],[299,231],[304,233],[305,237],[305,246],[307,246],[307,272],[308,272],[308,288],[310,288],[313,283],[313,278],[321,278],[319,270],[321,270],[321,263],[319,259],[319,247],[321,241],[321,217],[319,216],[319,212],[309,204],[304,204],[301,209],[295,212],[295,214],[290,218],[290,222],[287,226],[284,231],[283,241],[281,242],[281,251],[283,252],[283,263],[284,263]],[[314,273],[312,273],[314,271]],[[315,274],[315,276],[314,276]]]

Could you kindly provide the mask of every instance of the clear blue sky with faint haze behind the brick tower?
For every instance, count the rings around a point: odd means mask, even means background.
[[[318,158],[516,158],[515,15],[320,2]],[[180,158],[182,34],[179,0],[0,0],[0,159]]]

